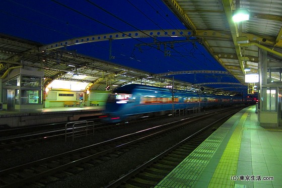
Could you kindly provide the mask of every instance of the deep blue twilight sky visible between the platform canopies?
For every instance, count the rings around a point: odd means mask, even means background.
[[[138,30],[187,29],[161,0],[3,0],[0,7],[0,32],[42,44],[96,34]],[[158,41],[184,40],[184,37],[162,37]],[[198,42],[175,43],[164,54],[164,46],[146,45],[153,38],[109,41],[69,46],[67,50],[111,61],[150,73],[190,70],[226,71]],[[137,47],[137,44],[142,44]],[[190,83],[235,82],[224,75],[178,75],[178,80]],[[229,87],[214,85],[210,87]],[[242,91],[242,88],[227,90]]]

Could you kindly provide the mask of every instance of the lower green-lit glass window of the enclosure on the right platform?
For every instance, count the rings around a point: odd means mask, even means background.
[[[262,111],[276,111],[276,87],[264,87],[262,88],[262,98],[261,98],[261,106]]]

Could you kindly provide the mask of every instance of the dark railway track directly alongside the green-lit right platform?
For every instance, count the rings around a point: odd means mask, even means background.
[[[222,117],[214,123],[209,124],[153,159],[130,170],[130,172],[121,176],[119,179],[113,180],[105,187],[154,187],[207,137],[213,134],[216,130],[214,126],[217,124],[220,126],[231,115]]]

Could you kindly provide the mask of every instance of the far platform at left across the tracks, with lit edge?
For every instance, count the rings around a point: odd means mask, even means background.
[[[49,107],[32,110],[0,111],[0,128],[19,128],[47,123],[76,121],[82,117],[103,114],[103,106]]]

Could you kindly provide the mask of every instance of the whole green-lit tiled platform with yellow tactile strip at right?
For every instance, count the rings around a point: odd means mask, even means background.
[[[233,115],[155,188],[282,187],[282,128],[259,126],[255,106]]]

